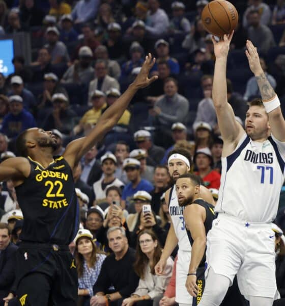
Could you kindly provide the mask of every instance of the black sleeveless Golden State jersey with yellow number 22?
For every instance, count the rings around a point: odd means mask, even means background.
[[[33,161],[30,175],[16,187],[24,223],[20,239],[26,242],[68,245],[79,226],[79,206],[72,170],[54,157],[47,168]]]

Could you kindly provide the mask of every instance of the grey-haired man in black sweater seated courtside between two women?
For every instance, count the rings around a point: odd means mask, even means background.
[[[113,251],[103,262],[97,282],[93,287],[95,296],[90,305],[121,305],[123,298],[130,296],[138,285],[138,276],[133,271],[135,252],[128,245],[123,227],[111,227],[107,232],[109,247]],[[110,285],[114,289],[109,290]]]

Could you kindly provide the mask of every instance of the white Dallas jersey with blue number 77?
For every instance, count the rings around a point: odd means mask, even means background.
[[[245,135],[230,156],[222,157],[215,212],[252,222],[274,220],[284,182],[284,160],[285,143],[273,136],[256,142]]]

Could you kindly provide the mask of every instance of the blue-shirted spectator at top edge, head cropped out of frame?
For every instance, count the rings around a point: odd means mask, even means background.
[[[71,13],[75,23],[84,23],[94,19],[97,15],[99,4],[99,0],[79,0]]]

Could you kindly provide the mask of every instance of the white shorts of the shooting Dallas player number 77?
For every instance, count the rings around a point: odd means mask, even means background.
[[[228,277],[238,285],[246,299],[249,296],[277,298],[275,278],[275,234],[271,223],[243,221],[219,214],[207,235],[205,272]]]

